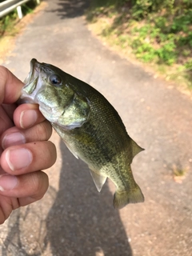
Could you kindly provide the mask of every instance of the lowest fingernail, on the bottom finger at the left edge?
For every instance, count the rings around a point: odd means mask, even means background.
[[[13,190],[18,184],[18,178],[9,174],[3,174],[0,176],[0,190]]]

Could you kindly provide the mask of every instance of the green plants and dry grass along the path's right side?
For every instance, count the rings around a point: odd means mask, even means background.
[[[191,0],[93,0],[86,19],[110,44],[192,90]]]

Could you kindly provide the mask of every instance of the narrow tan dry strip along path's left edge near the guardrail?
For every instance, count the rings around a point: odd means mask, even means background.
[[[48,6],[47,2],[41,2],[39,6],[35,8],[33,13],[26,14],[21,20],[19,20],[15,26],[16,32],[14,35],[5,34],[2,38],[0,38],[0,65],[6,62],[6,58],[13,55],[13,50],[15,46],[15,41],[20,34],[26,29],[26,26],[33,22],[34,17],[38,16],[42,10],[44,10]]]

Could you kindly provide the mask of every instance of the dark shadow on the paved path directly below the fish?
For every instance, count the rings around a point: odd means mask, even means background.
[[[52,254],[131,256],[128,238],[118,211],[112,206],[113,196],[107,184],[99,194],[88,166],[75,159],[63,142],[60,145],[59,190],[46,219],[46,239]]]

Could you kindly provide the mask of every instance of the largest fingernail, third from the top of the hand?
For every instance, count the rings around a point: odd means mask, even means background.
[[[33,157],[30,150],[24,148],[6,151],[6,162],[10,170],[19,170],[29,166],[32,159]]]

